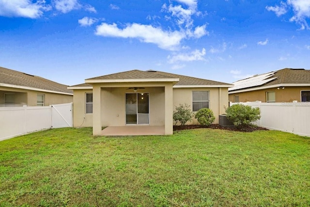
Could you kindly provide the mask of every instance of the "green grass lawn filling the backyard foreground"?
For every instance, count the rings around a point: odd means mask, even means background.
[[[218,129],[0,142],[0,206],[310,206],[310,138]]]

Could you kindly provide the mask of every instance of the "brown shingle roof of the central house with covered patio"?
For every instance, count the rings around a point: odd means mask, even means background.
[[[175,85],[190,86],[190,85],[231,85],[229,83],[218,82],[214,80],[205,80],[189,76],[177,75],[161,71],[141,71],[131,70],[126,72],[114,73],[106,76],[99,76],[88,80],[126,80],[126,79],[179,79]],[[76,85],[78,86],[78,85]]]

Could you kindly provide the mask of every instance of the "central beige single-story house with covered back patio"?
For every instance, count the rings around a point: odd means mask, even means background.
[[[131,70],[86,79],[70,86],[74,127],[162,126],[172,134],[175,106],[188,104],[193,111],[210,108],[218,115],[228,107],[228,88],[233,85],[160,71]],[[193,120],[192,123],[197,123]]]

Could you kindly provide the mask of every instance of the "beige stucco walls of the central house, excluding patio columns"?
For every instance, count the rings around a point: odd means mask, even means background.
[[[170,83],[171,84],[171,83]],[[132,86],[144,87],[138,89],[138,93],[149,93],[150,104],[150,125],[165,125],[165,87],[163,83],[151,83],[151,86],[145,87],[145,83],[134,83]],[[100,89],[101,98],[101,125],[106,126],[125,126],[125,94],[135,93],[133,89],[127,90],[128,83],[109,83]],[[124,87],[125,86],[125,87]],[[167,84],[167,89],[172,85]],[[172,98],[173,110],[179,104],[188,104],[192,109],[192,92],[193,91],[209,91],[210,109],[216,117],[215,123],[218,124],[218,115],[225,113],[228,107],[228,88],[173,88],[172,94],[167,96]],[[74,90],[73,100],[73,125],[74,127],[92,127],[93,114],[85,113],[85,93],[93,92],[92,89]],[[169,101],[168,101],[169,103]],[[168,107],[169,108],[169,107]],[[94,109],[93,109],[94,111]],[[172,116],[172,111],[170,111]],[[84,122],[83,122],[84,121]],[[187,124],[198,124],[197,120]]]

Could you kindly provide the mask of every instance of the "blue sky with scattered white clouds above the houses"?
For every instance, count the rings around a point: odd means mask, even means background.
[[[310,0],[0,0],[0,66],[60,82],[310,69]]]

